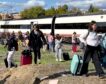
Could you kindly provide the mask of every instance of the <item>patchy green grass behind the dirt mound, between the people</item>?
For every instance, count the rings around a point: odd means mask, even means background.
[[[14,62],[18,65],[20,65],[20,57],[21,57],[21,52],[24,50],[25,48],[22,46],[19,46],[19,50],[15,52],[14,54]],[[63,45],[63,52],[69,52],[70,57],[73,56],[73,54],[71,53],[71,45]],[[4,45],[0,45],[0,66],[4,66],[4,58],[6,57],[6,53],[7,53],[7,49],[4,48]],[[77,54],[81,55],[81,52],[77,52]],[[67,69],[69,69],[70,66],[70,61],[63,61],[63,62],[56,62],[55,61],[55,54],[53,52],[48,52],[48,51],[43,51],[41,50],[41,55],[42,55],[42,59],[41,59],[41,64],[61,64],[64,65]],[[34,62],[33,62],[34,64]],[[94,69],[92,63],[90,63],[90,67],[89,69]]]

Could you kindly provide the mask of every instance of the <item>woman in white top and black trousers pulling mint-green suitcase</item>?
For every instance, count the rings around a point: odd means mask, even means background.
[[[87,36],[88,32],[89,35]],[[86,45],[81,75],[88,76],[88,65],[90,59],[92,58],[97,75],[101,78],[105,77],[97,53],[100,40],[97,35],[97,25],[95,21],[91,21],[91,23],[89,24],[88,32],[79,37],[80,41]]]

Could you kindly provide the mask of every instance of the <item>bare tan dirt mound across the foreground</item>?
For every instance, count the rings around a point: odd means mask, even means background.
[[[27,65],[0,71],[0,84],[38,84],[36,78],[42,79],[39,84],[49,84],[52,79],[58,79],[58,84],[106,84],[106,79],[94,75],[71,76],[62,65]]]

